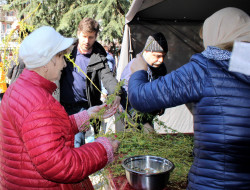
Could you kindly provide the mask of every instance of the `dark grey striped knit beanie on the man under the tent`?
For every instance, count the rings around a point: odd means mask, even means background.
[[[145,51],[168,52],[168,43],[161,32],[150,35],[144,47]]]

